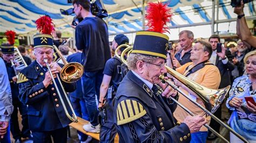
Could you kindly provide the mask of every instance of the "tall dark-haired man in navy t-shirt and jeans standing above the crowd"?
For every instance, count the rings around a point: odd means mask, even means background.
[[[98,110],[95,95],[99,98],[99,88],[103,79],[103,69],[107,60],[111,58],[109,37],[106,23],[93,16],[90,2],[74,0],[74,12],[78,18],[83,18],[76,26],[76,47],[82,50],[82,65],[84,66],[84,100],[89,114],[90,123],[83,126],[87,132],[98,133]]]

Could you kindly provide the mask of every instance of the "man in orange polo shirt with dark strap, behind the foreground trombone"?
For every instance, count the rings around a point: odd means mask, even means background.
[[[190,80],[203,85],[204,87],[217,89],[220,84],[220,73],[219,69],[212,65],[208,60],[210,59],[212,54],[212,46],[209,42],[204,40],[199,40],[192,47],[190,59],[192,62],[188,62],[185,65],[177,68],[176,70],[183,74],[184,76],[190,78]],[[185,87],[182,83],[174,80],[177,86],[181,88],[193,101],[201,104],[205,107],[203,101],[200,97],[194,94],[193,91]],[[201,110],[197,105],[188,101],[186,97],[183,95],[179,95],[178,101],[183,104],[187,109],[190,109],[195,115],[204,115],[204,111]],[[174,117],[178,120],[178,122],[182,122],[186,116],[189,114],[180,108],[174,111]],[[206,116],[206,115],[204,115]],[[207,124],[210,124],[210,118],[207,118]],[[199,132],[191,134],[191,142],[206,142],[207,138],[207,128],[202,126]]]

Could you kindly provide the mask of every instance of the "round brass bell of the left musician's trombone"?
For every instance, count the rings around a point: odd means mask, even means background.
[[[78,62],[70,62],[66,64],[60,71],[60,78],[64,82],[73,83],[78,81],[84,73],[84,66]]]

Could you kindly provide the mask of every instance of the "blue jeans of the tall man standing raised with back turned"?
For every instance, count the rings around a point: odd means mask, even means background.
[[[96,105],[96,98],[99,100],[99,88],[103,80],[103,69],[93,72],[85,71],[82,77],[83,89],[84,89],[84,100],[86,109],[89,114],[90,123],[93,126],[97,126],[98,123],[98,108]]]

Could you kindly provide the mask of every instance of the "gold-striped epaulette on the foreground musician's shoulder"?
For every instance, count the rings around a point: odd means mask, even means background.
[[[123,125],[143,117],[146,110],[137,101],[126,99],[117,105],[117,125]]]

